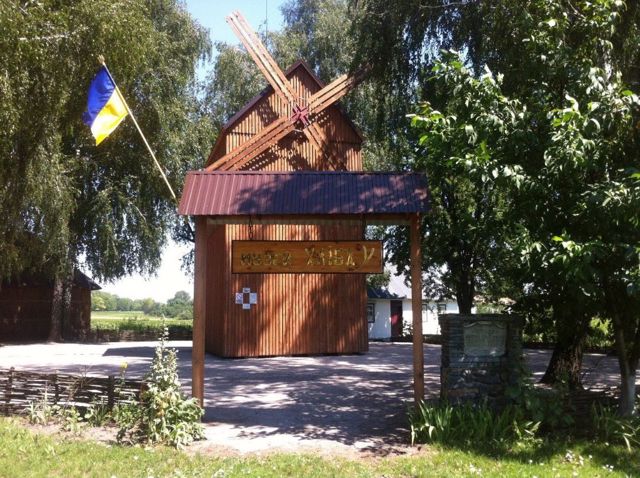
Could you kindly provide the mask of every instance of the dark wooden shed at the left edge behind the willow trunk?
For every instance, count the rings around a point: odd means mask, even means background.
[[[100,286],[76,269],[71,290],[69,323],[63,336],[78,340],[91,326],[91,291]],[[47,340],[51,328],[53,285],[50,281],[28,278],[4,283],[0,287],[0,341]]]

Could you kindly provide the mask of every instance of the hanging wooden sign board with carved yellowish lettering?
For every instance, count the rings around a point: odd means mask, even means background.
[[[233,241],[231,271],[379,274],[382,241]]]

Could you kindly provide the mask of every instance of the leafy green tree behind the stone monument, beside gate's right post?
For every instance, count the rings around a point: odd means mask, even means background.
[[[454,295],[463,314],[479,292],[499,297],[499,270],[511,260],[503,247],[511,232],[506,190],[495,178],[502,159],[518,154],[512,139],[526,111],[502,95],[500,81],[489,70],[474,78],[459,55],[448,54],[429,84],[442,108],[426,102],[412,115],[421,147],[411,169],[428,174],[431,192],[423,220],[426,288]],[[387,245],[394,262],[407,263],[404,230],[396,228]]]

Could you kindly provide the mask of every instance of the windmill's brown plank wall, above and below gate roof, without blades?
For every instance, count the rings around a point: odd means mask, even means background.
[[[288,77],[306,104],[320,85],[299,64]],[[271,90],[254,100],[223,130],[210,162],[222,157],[268,126],[290,115]],[[316,118],[346,169],[362,170],[362,138],[337,106]],[[328,169],[301,131],[289,134],[269,151],[243,166],[253,171]],[[368,350],[366,287],[362,274],[233,274],[233,240],[362,239],[354,225],[211,225],[207,259],[206,350],[223,357],[359,353]],[[249,287],[258,304],[243,310],[235,293]]]

